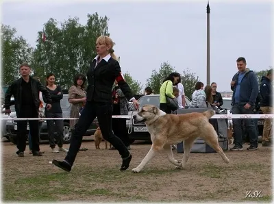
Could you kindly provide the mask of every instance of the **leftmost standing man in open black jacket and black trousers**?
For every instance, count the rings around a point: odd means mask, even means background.
[[[20,66],[21,78],[12,82],[5,92],[5,114],[10,115],[10,98],[14,96],[15,111],[17,118],[38,118],[38,109],[40,106],[39,92],[45,95],[48,104],[47,109],[51,108],[51,95],[42,86],[40,81],[29,76],[30,67],[24,62]],[[18,120],[18,140],[16,154],[19,157],[24,156],[27,136],[27,120]],[[32,154],[42,156],[39,148],[39,129],[38,120],[29,120],[29,131],[32,135]]]

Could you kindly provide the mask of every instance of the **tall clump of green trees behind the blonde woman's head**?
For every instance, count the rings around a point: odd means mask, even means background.
[[[47,73],[54,73],[58,84],[68,89],[77,73],[86,74],[89,62],[95,58],[96,39],[108,34],[108,18],[88,14],[86,25],[79,18],[69,18],[59,23],[50,18],[45,23],[47,39],[42,41],[42,31],[38,32],[34,51],[35,74],[45,81]]]

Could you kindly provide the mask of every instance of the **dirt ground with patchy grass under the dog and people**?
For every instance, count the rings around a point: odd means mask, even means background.
[[[191,153],[186,170],[176,170],[164,153],[159,153],[141,173],[132,173],[151,144],[132,144],[132,163],[121,172],[118,151],[95,149],[90,139],[82,147],[70,173],[49,164],[66,153],[17,157],[16,146],[2,141],[3,201],[84,201],[95,202],[271,202],[271,147],[258,151],[226,151],[230,164],[216,153]],[[69,144],[64,147],[69,148]],[[231,146],[230,146],[231,147]],[[104,148],[104,143],[101,143]],[[182,153],[173,151],[175,159]],[[247,192],[251,196],[247,196]]]

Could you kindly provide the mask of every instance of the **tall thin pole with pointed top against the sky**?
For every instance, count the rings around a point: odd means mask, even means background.
[[[210,3],[206,6],[207,27],[206,27],[206,84],[210,85]]]

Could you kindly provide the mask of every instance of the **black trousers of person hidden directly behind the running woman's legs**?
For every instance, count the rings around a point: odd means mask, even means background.
[[[122,140],[125,146],[129,146],[126,118],[112,118],[112,130],[114,134]]]

